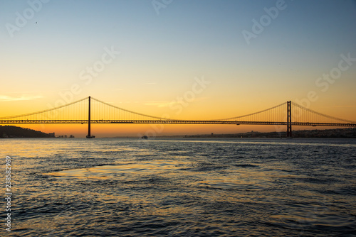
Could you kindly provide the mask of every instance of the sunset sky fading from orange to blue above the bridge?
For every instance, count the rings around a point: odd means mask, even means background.
[[[355,30],[353,0],[0,0],[0,117],[91,96],[142,114],[206,120],[291,100],[356,121]],[[169,106],[192,91],[179,113]],[[78,125],[23,127],[86,133]],[[151,128],[93,129],[129,136]],[[160,133],[273,129],[164,125]]]

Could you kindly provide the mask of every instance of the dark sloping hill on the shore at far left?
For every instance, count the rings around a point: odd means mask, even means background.
[[[0,126],[0,138],[54,138],[54,133],[48,134],[16,126]]]

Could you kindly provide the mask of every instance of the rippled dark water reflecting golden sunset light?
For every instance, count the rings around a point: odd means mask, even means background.
[[[10,236],[356,235],[356,140],[14,138],[0,148],[2,173],[6,155],[13,165]]]

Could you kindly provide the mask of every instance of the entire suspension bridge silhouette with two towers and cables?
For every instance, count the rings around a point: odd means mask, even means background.
[[[86,97],[53,109],[0,118],[0,124],[11,123],[88,123],[87,137],[91,136],[91,123],[282,125],[287,127],[287,137],[292,137],[292,126],[356,127],[355,121],[320,114],[292,101],[243,116],[213,120],[182,120],[140,114],[93,97]]]

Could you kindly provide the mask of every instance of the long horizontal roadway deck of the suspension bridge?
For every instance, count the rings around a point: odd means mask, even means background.
[[[86,120],[0,120],[0,124],[12,123],[88,123]],[[287,125],[284,122],[271,121],[211,121],[211,120],[90,120],[90,123],[167,123],[167,124],[249,124],[249,125]],[[334,126],[356,127],[356,123],[308,123],[292,122],[292,126]]]

